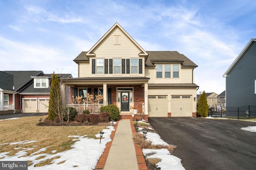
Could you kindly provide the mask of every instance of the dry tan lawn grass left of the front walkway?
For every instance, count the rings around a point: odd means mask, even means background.
[[[19,119],[3,120],[0,121],[0,153],[10,152],[8,156],[16,154],[22,148],[33,148],[28,150],[27,155],[30,155],[39,149],[46,148],[45,151],[40,152],[48,154],[56,154],[64,150],[71,148],[75,141],[73,137],[68,137],[69,135],[87,135],[87,137],[95,138],[95,135],[105,129],[106,126],[37,126],[38,120],[42,118],[43,120],[47,116],[42,117],[21,117]],[[27,144],[15,144],[9,145],[10,143],[20,142],[20,141],[34,141]],[[3,145],[4,144],[4,145]],[[52,153],[52,150],[57,150]],[[0,158],[1,159],[1,158]],[[40,159],[40,158],[38,158]],[[51,164],[51,160],[44,161],[42,164]]]

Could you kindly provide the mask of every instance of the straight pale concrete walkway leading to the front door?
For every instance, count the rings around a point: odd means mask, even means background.
[[[104,170],[138,170],[138,162],[129,119],[118,123]]]

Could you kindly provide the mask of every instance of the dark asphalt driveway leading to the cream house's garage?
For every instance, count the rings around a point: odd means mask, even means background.
[[[176,145],[186,170],[255,170],[256,133],[241,127],[256,123],[198,117],[152,117],[161,138]]]

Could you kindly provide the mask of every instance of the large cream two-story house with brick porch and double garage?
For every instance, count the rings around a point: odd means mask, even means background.
[[[74,96],[103,94],[103,105],[129,107],[144,117],[196,116],[195,63],[177,51],[145,51],[118,23],[74,62],[78,78],[64,79]]]

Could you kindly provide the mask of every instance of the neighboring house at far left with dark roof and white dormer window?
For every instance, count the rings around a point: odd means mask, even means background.
[[[48,112],[51,77],[42,71],[0,71],[0,114]]]

